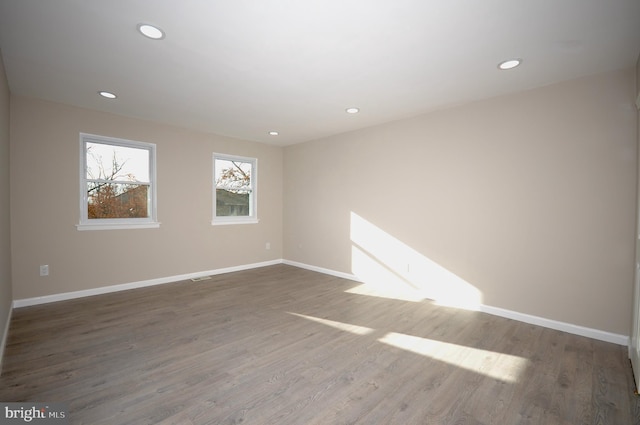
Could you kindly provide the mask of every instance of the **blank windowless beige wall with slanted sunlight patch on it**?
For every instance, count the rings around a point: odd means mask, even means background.
[[[285,258],[629,335],[633,102],[628,69],[289,146]]]

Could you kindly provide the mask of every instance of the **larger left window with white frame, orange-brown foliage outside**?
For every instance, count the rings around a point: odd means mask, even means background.
[[[80,134],[78,230],[158,227],[156,146]]]

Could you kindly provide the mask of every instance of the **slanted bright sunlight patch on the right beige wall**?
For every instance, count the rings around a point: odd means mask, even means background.
[[[363,284],[348,292],[478,310],[480,291],[379,227],[351,212],[351,272]]]

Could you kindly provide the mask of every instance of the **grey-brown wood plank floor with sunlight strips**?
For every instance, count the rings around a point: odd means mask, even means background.
[[[640,424],[626,347],[276,265],[16,309],[2,401],[91,425]]]

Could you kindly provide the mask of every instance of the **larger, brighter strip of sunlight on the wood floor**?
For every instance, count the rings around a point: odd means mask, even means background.
[[[507,383],[518,382],[529,360],[510,354],[389,332],[378,341]]]

